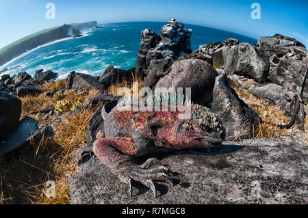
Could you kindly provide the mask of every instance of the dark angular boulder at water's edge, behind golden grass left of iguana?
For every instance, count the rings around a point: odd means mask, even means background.
[[[66,89],[73,90],[105,90],[105,87],[89,74],[72,71],[66,78]]]

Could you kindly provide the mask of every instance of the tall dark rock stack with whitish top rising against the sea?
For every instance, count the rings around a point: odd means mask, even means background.
[[[184,29],[183,23],[171,18],[164,25],[159,36],[151,29],[144,29],[141,33],[140,49],[137,55],[136,68],[149,69],[151,62],[170,57],[174,62],[179,56],[191,53],[191,29]],[[152,63],[153,66],[153,63]]]

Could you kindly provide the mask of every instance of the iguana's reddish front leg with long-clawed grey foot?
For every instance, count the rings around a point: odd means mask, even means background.
[[[153,191],[154,197],[156,197],[156,189],[153,180],[163,180],[173,185],[169,177],[172,175],[172,171],[163,166],[159,160],[151,158],[142,165],[136,165],[131,162],[129,156],[123,155],[134,155],[137,152],[131,138],[111,137],[97,139],[97,141],[94,141],[93,151],[121,182],[129,184],[130,195],[132,195],[131,182],[133,180],[149,187]],[[123,154],[120,154],[119,151]]]

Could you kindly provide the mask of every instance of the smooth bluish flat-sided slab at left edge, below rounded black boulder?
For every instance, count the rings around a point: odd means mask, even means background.
[[[36,128],[34,118],[23,118],[11,131],[0,141],[0,156],[26,144],[40,134]]]

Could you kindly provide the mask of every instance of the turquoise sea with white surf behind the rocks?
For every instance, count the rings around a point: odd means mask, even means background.
[[[83,31],[81,38],[58,40],[28,51],[16,57],[11,62],[0,67],[20,68],[10,70],[10,75],[26,71],[34,75],[35,71],[43,68],[59,73],[59,78],[65,78],[75,70],[91,75],[100,76],[107,66],[127,70],[135,66],[142,29],[153,29],[159,33],[166,23],[161,22],[132,22],[112,23],[102,25],[103,29]],[[257,44],[257,40],[237,33],[223,31],[209,27],[185,24],[185,28],[192,29],[192,51],[200,44],[214,41],[224,42],[226,38],[237,38],[240,42]],[[6,74],[8,72],[5,72]]]

